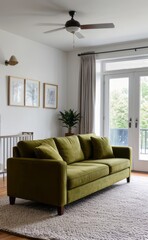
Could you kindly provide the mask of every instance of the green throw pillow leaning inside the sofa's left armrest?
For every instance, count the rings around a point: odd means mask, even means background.
[[[58,151],[48,144],[42,144],[36,147],[34,151],[37,158],[63,160]]]

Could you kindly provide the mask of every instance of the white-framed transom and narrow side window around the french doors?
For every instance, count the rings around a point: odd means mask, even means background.
[[[108,74],[139,71],[148,68],[148,57],[126,58],[114,60],[96,60],[96,106],[95,106],[95,133],[104,135],[104,102],[105,82],[103,79]],[[135,69],[135,70],[134,70]],[[108,73],[107,73],[108,71]],[[110,71],[110,72],[109,72]],[[112,72],[111,72],[112,71]]]

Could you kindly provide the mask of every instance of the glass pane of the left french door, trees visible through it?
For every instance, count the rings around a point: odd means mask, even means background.
[[[109,137],[112,145],[128,145],[129,78],[111,78],[109,82]]]

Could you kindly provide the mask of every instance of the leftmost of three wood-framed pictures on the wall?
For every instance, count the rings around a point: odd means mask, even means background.
[[[23,78],[8,76],[8,105],[24,106],[25,82]]]

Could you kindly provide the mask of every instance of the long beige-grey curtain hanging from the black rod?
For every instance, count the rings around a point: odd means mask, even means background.
[[[80,68],[80,133],[94,132],[96,97],[96,59],[94,55],[81,56]]]

